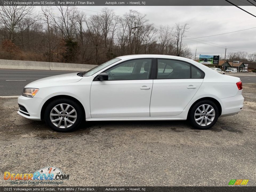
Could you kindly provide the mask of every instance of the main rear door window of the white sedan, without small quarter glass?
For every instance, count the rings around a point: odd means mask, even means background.
[[[190,64],[170,59],[157,59],[157,79],[189,79]]]

